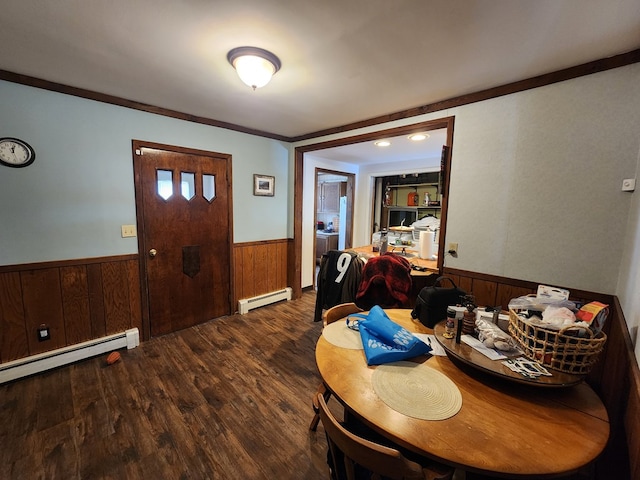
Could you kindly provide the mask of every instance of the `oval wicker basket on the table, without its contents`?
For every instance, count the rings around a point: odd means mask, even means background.
[[[574,375],[589,373],[607,341],[603,332],[594,336],[589,329],[565,327],[558,331],[532,325],[513,309],[509,310],[509,333],[528,358]],[[578,337],[579,333],[586,336]]]

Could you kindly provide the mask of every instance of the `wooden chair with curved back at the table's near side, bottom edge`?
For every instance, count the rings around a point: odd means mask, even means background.
[[[347,430],[333,416],[324,397],[317,395],[320,409],[320,419],[327,435],[333,468],[342,470],[347,480],[355,480],[356,467],[371,473],[371,479],[381,477],[392,480],[451,480],[454,469],[441,464],[430,464],[425,459],[425,465],[407,459],[399,450],[381,445],[360,437]],[[338,472],[332,478],[341,479]]]

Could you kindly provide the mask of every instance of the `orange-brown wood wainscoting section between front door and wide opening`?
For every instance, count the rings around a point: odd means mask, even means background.
[[[289,240],[286,238],[234,244],[234,307],[237,307],[238,300],[288,286],[288,244]]]

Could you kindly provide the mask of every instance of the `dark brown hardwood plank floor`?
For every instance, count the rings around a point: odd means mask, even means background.
[[[326,479],[315,292],[0,385],[2,479]],[[337,407],[336,407],[337,408]]]

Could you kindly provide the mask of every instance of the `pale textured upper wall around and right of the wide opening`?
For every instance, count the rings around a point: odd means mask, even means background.
[[[639,80],[634,64],[305,144],[454,116],[447,266],[617,294],[633,329],[640,206],[621,185],[638,171]]]

